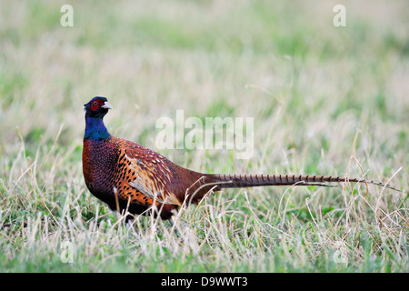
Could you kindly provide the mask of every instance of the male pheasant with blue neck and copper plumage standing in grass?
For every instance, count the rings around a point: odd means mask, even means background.
[[[340,176],[203,174],[177,166],[165,156],[110,135],[103,118],[112,105],[102,96],[85,104],[83,173],[89,191],[114,211],[171,219],[181,206],[197,204],[224,188],[330,186],[332,182],[380,182]],[[397,189],[394,189],[397,190]],[[400,190],[397,190],[400,191]],[[155,211],[153,211],[155,209]]]

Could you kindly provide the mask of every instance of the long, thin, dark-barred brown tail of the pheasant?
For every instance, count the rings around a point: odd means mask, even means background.
[[[367,181],[365,179],[341,177],[341,176],[311,176],[311,175],[232,175],[232,174],[208,174],[208,177],[221,188],[243,188],[253,186],[331,186],[325,183],[368,183],[383,186],[394,191],[402,192],[393,186],[382,182]]]

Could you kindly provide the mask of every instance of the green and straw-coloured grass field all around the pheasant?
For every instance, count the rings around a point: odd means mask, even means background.
[[[408,272],[408,196],[228,190],[180,236],[126,226],[85,187],[83,104],[111,134],[212,173],[365,176],[408,191],[405,1],[0,1],[1,272]],[[254,118],[254,155],[158,150],[156,120]],[[352,157],[354,156],[354,157]],[[65,256],[68,255],[68,256]],[[72,255],[72,263],[65,258]]]

